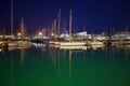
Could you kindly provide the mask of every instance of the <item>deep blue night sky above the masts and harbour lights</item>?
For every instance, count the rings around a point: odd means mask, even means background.
[[[14,29],[20,29],[22,16],[28,33],[51,27],[62,12],[62,26],[68,26],[69,11],[73,11],[73,32],[87,30],[99,33],[109,30],[130,31],[130,1],[129,0],[14,0]],[[0,0],[0,29],[10,31],[11,0]],[[86,25],[86,28],[83,28]],[[67,28],[68,29],[68,28]]]

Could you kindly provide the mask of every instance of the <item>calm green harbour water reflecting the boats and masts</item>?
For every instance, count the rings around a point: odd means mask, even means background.
[[[1,48],[0,86],[130,86],[130,47]]]

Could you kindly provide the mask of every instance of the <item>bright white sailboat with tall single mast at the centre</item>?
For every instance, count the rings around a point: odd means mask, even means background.
[[[81,45],[87,44],[86,42],[73,41],[73,38],[72,38],[72,10],[70,10],[70,15],[69,15],[69,42],[60,42],[58,44],[63,45],[63,46],[81,46]]]

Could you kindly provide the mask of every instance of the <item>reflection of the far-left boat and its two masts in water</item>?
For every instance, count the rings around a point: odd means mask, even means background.
[[[16,69],[16,62],[18,60],[16,59],[20,59],[20,63],[21,63],[21,68],[23,69],[24,68],[24,61],[25,61],[25,58],[26,58],[26,51],[27,48],[29,47],[8,47],[8,52],[9,52],[9,56],[10,56],[10,68],[11,68],[11,86],[14,86],[14,71]]]

